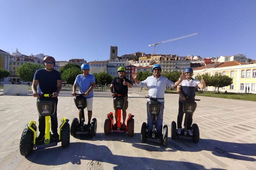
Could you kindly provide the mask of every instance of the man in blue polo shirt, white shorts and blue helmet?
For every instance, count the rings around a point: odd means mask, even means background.
[[[75,90],[77,86],[79,87],[79,93],[85,93],[85,98],[87,101],[87,111],[88,111],[88,124],[87,127],[90,129],[91,127],[91,116],[93,115],[93,89],[95,86],[95,77],[93,74],[89,74],[90,66],[88,64],[83,63],[81,66],[83,74],[77,75],[74,85],[73,91],[71,93],[72,96],[75,96]],[[79,122],[82,120],[82,113],[78,111]]]

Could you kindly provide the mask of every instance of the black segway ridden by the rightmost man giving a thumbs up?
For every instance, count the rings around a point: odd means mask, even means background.
[[[200,99],[195,99],[195,101],[200,101]],[[183,112],[185,113],[185,119],[184,119],[184,128],[181,129],[181,134],[177,133],[176,129],[176,122],[173,121],[171,122],[171,139],[175,140],[176,138],[181,138],[181,139],[187,139],[187,140],[192,140],[194,143],[199,142],[199,128],[196,123],[193,123],[191,125],[193,135],[188,134],[188,127],[187,127],[187,122],[188,122],[188,116],[189,114],[193,114],[194,111],[196,111],[196,102],[194,101],[189,101],[185,100],[183,103]]]

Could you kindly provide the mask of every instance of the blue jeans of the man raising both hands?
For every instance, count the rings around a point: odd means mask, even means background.
[[[156,120],[156,129],[157,133],[162,132],[163,129],[163,109],[165,108],[165,102],[160,102],[161,103],[161,111],[160,114],[157,116]],[[147,102],[148,104],[148,102]],[[148,107],[147,107],[147,116],[148,116],[148,123],[147,123],[147,129],[149,132],[152,132],[153,130],[153,116],[149,114],[148,112]]]

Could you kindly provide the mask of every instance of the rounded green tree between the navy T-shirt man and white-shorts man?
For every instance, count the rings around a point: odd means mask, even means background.
[[[78,74],[82,74],[80,68],[70,67],[61,74],[61,78],[68,84],[73,84]]]

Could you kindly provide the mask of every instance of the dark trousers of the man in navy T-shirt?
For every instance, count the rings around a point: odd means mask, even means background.
[[[58,98],[52,98],[55,100],[55,113],[51,115],[51,128],[52,128],[52,133],[57,133],[58,130],[58,119],[57,119],[57,104],[58,104]],[[38,125],[38,130],[41,133],[45,133],[45,117],[44,116],[39,116],[38,119],[39,125]]]

